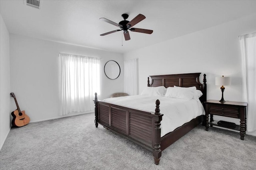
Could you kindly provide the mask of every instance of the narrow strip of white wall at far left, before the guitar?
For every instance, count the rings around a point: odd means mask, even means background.
[[[0,149],[11,129],[9,32],[0,14]]]

